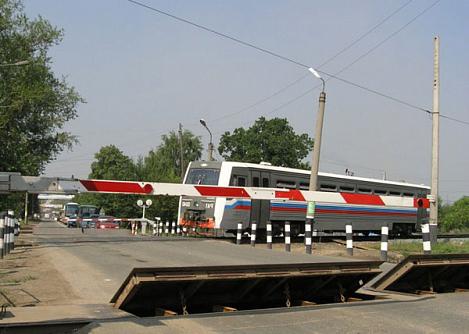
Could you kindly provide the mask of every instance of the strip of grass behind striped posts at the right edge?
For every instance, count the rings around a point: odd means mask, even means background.
[[[379,249],[379,243],[370,244],[372,248]],[[400,253],[404,256],[411,254],[423,254],[422,242],[390,242],[389,251]],[[438,241],[432,247],[432,254],[457,254],[469,253],[469,241]]]

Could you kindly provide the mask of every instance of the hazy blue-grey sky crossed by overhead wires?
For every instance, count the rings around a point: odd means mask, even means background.
[[[341,78],[427,110],[438,35],[440,112],[469,122],[468,1],[441,0],[430,9],[435,0],[140,1],[327,73],[353,63]],[[144,156],[179,123],[206,147],[200,118],[215,144],[260,116],[287,118],[297,133],[314,136],[320,88],[304,67],[127,0],[23,2],[28,16],[63,29],[50,52],[53,69],[86,100],[66,125],[79,144],[51,162],[46,175],[85,178],[94,154],[109,144],[134,159]],[[356,176],[430,184],[431,116],[340,80],[327,80],[326,93],[320,171],[348,168]],[[441,119],[445,201],[469,193],[468,141],[469,125]]]

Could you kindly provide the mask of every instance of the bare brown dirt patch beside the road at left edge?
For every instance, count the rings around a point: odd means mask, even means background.
[[[37,306],[67,304],[77,297],[55,269],[48,249],[20,237],[17,247],[0,261],[0,305]]]

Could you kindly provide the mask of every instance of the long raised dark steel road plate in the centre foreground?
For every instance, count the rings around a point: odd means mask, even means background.
[[[134,268],[111,303],[137,316],[346,302],[381,261]],[[235,291],[235,293],[230,293]]]

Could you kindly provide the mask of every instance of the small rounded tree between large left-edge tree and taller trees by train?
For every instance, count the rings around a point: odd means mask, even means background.
[[[103,146],[95,154],[89,178],[101,180],[137,181],[135,163],[114,145]],[[119,218],[135,218],[140,215],[136,205],[138,196],[115,194],[81,194],[76,200],[80,204],[96,205],[108,215]]]

